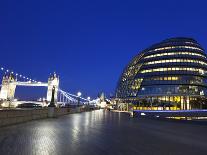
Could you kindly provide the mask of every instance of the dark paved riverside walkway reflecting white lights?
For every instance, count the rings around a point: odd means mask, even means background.
[[[6,155],[206,155],[207,123],[97,110],[0,129]]]

